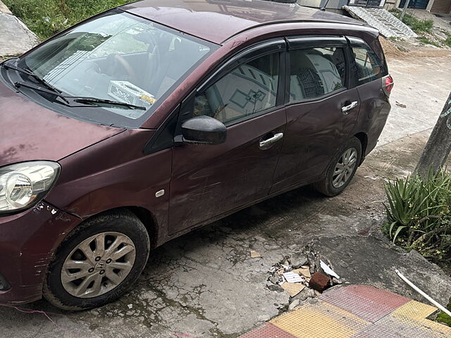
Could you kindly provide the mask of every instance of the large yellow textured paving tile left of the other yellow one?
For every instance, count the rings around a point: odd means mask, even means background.
[[[299,306],[271,323],[299,338],[350,338],[371,324],[323,301]]]

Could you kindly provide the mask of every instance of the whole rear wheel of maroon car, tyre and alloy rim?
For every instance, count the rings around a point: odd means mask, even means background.
[[[352,137],[340,151],[337,152],[333,161],[330,162],[326,177],[320,182],[314,183],[314,188],[326,196],[340,194],[348,184],[359,166],[362,158],[362,143],[357,137]],[[348,161],[348,162],[347,162]],[[350,162],[352,161],[352,165]],[[342,170],[340,172],[340,170]],[[340,179],[340,174],[342,178]]]

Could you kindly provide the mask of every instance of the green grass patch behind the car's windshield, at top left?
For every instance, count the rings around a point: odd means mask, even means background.
[[[132,0],[2,1],[42,40],[101,11],[132,2]]]

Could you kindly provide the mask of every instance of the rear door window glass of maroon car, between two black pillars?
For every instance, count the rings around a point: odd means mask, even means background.
[[[290,101],[314,99],[345,87],[342,48],[290,51]]]

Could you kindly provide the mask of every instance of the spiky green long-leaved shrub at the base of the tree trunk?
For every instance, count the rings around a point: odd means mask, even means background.
[[[426,179],[410,175],[385,183],[388,223],[395,244],[434,260],[451,261],[451,175],[441,170]]]

